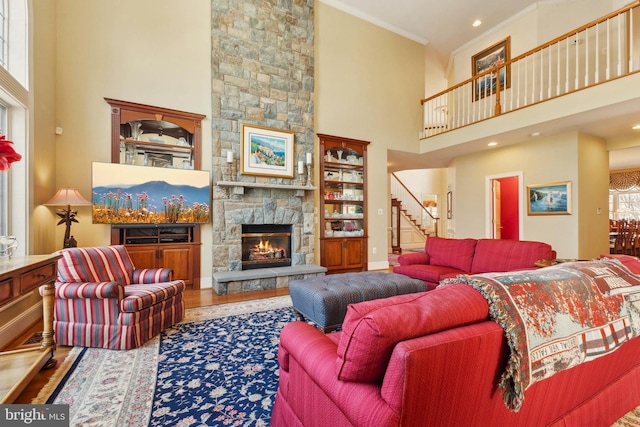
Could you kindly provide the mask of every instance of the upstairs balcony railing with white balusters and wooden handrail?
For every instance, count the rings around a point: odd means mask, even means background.
[[[423,99],[424,137],[640,70],[640,2]]]

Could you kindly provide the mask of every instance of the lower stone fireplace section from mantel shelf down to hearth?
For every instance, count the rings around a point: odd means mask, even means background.
[[[239,181],[220,179],[214,186],[213,289],[218,295],[264,289],[285,288],[291,280],[324,274],[326,268],[314,264],[314,187],[270,183],[269,178],[239,176]],[[271,178],[273,179],[273,178]],[[264,182],[261,182],[263,181]],[[262,250],[261,268],[245,268],[247,253],[260,254],[260,236],[255,230],[288,240],[281,265],[276,250]],[[286,230],[286,231],[283,231]],[[244,245],[243,235],[252,239]],[[257,242],[256,242],[257,240]],[[265,236],[262,236],[263,246]],[[274,246],[273,242],[271,246]],[[275,246],[281,246],[276,244]],[[267,255],[268,254],[268,255]],[[244,260],[243,260],[244,258]],[[260,256],[258,256],[260,258]],[[256,261],[255,259],[252,261]],[[268,265],[267,261],[270,265]],[[284,264],[284,263],[282,263]]]

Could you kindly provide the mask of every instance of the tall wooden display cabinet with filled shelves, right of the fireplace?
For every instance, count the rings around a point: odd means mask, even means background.
[[[320,139],[320,264],[327,273],[367,269],[367,146],[369,142],[318,134]]]

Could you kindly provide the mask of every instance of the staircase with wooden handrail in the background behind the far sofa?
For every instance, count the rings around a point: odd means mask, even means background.
[[[391,174],[391,206],[397,209],[415,230],[426,239],[430,235],[438,235],[438,221],[440,218],[433,216],[420,200],[407,188],[407,186],[394,173]],[[400,249],[400,221],[392,224],[392,249],[395,252]]]

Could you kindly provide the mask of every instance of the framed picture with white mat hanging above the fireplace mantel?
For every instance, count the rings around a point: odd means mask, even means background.
[[[293,132],[242,125],[243,175],[293,178]]]

